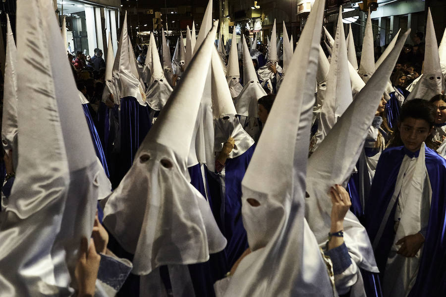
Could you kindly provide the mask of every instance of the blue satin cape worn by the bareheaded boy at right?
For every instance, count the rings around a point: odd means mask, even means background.
[[[371,242],[374,242],[389,205],[404,155],[403,146],[392,147],[386,149],[378,161],[365,208],[365,226]],[[444,274],[446,271],[446,160],[427,147],[425,156],[432,188],[431,208],[419,273],[410,296],[426,296],[424,294],[426,290],[446,294],[446,275]],[[393,215],[394,208],[390,217]],[[389,235],[394,236],[392,228],[392,221],[388,220],[383,236],[376,247],[379,252],[376,252],[375,256],[381,270],[385,268],[383,265],[386,264],[393,241],[389,238]],[[431,291],[433,283],[436,284],[434,287],[437,291]]]

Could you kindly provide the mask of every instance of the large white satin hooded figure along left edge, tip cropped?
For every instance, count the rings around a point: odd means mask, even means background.
[[[29,100],[18,101],[20,163],[2,217],[1,296],[74,294],[79,244],[95,218],[103,169],[53,8],[49,1],[17,3],[17,96]],[[47,68],[32,64],[36,52],[48,53],[40,57]]]

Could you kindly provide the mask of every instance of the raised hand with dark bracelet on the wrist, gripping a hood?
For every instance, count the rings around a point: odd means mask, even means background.
[[[332,199],[331,233],[343,230],[344,217],[351,206],[350,195],[342,186],[335,184],[330,188]]]

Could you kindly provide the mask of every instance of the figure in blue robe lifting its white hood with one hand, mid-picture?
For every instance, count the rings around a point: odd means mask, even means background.
[[[222,195],[219,213],[222,216],[223,235],[228,241],[225,254],[228,267],[231,267],[247,248],[246,231],[239,216],[241,210],[241,180],[254,152],[254,140],[243,129],[236,117],[229,89],[223,81],[223,69],[219,65],[216,51],[214,51],[211,63],[212,113],[215,130],[214,150],[218,155],[216,160],[216,171],[219,173],[220,179],[218,192]],[[222,151],[229,137],[232,138],[234,147],[228,155],[223,156]],[[220,157],[225,159],[223,164]]]

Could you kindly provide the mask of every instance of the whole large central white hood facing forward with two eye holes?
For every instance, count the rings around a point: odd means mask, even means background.
[[[209,203],[189,182],[186,159],[205,87],[217,25],[203,41],[135,162],[109,197],[104,224],[133,253],[133,273],[161,265],[205,262],[226,240]]]

